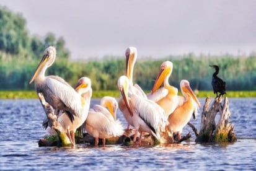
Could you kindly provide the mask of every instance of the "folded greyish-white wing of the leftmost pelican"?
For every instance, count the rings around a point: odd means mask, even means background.
[[[74,110],[75,115],[80,114],[81,96],[70,85],[63,84],[63,82],[51,77],[46,79],[46,85],[67,107]]]

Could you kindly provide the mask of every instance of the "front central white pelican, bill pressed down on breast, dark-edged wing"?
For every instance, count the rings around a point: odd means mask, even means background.
[[[151,100],[136,94],[133,91],[135,88],[126,76],[121,76],[118,79],[118,89],[124,99],[126,110],[129,112],[126,120],[135,128],[133,142],[136,141],[138,131],[141,133],[139,143],[141,142],[142,132],[151,133],[159,140],[160,131],[165,128],[167,121],[164,110]]]

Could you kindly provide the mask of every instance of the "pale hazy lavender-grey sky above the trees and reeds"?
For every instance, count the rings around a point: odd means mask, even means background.
[[[71,58],[138,58],[256,50],[256,1],[1,0],[27,20],[30,34],[63,37]]]

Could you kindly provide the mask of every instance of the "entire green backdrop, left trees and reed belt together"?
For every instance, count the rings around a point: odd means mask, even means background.
[[[31,36],[25,19],[0,6],[0,90],[30,90],[29,84],[43,51],[49,45],[57,50],[57,58],[46,74],[63,77],[69,84],[76,84],[82,76],[90,77],[93,90],[117,90],[118,77],[125,74],[125,56],[106,56],[100,60],[71,61],[63,38],[48,33],[44,38]],[[124,53],[125,49],[124,47]],[[139,50],[138,50],[139,51]],[[227,90],[256,90],[256,54],[249,56],[169,56],[164,59],[139,59],[133,73],[134,82],[144,90],[151,90],[162,62],[169,60],[174,69],[169,83],[179,87],[187,79],[193,89],[212,90],[214,72],[209,65],[219,65],[219,77]]]

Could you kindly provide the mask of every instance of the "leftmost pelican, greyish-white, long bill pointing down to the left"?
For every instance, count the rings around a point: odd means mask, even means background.
[[[65,111],[69,119],[74,121],[74,116],[81,116],[81,96],[64,79],[58,76],[45,76],[45,71],[53,64],[56,58],[56,50],[53,46],[46,48],[43,58],[38,64],[30,84],[35,81],[35,90],[42,93],[46,102],[58,115],[60,110]],[[51,126],[51,123],[49,123]]]

